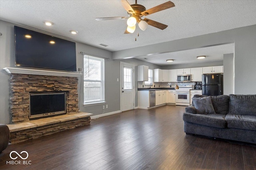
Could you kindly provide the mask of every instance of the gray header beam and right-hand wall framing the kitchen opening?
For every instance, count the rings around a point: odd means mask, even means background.
[[[256,25],[115,51],[113,59],[182,51],[225,43],[235,43],[235,94],[256,94]]]

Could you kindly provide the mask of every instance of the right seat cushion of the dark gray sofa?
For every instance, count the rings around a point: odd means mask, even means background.
[[[227,114],[225,117],[229,128],[256,131],[256,116]]]

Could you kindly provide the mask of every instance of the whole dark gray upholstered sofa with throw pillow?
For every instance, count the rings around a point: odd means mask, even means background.
[[[211,105],[206,101],[208,98],[214,111],[208,106]],[[192,105],[186,107],[183,114],[187,135],[256,144],[256,95],[195,95],[192,100]]]

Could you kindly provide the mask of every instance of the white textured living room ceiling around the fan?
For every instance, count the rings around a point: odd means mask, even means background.
[[[171,0],[175,7],[147,16],[168,25],[148,26],[124,34],[126,20],[95,18],[127,16],[120,0],[0,0],[0,19],[68,37],[109,51],[119,51],[256,24],[256,0]],[[128,0],[134,4],[135,0]],[[150,9],[167,0],[138,0]],[[44,21],[52,21],[48,27]],[[72,35],[69,31],[78,31]],[[137,41],[135,41],[135,37]],[[99,44],[109,45],[102,47]],[[148,59],[150,60],[150,59]]]

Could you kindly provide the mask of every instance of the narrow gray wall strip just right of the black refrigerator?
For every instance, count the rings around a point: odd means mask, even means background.
[[[223,82],[223,94],[234,94],[234,54],[223,55],[223,68],[224,68],[224,82]]]

